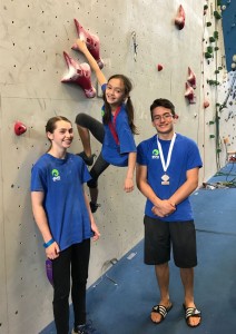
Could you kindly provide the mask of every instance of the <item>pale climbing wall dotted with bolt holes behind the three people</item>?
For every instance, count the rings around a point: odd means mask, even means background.
[[[203,17],[205,3],[209,8]],[[0,19],[0,333],[39,333],[52,321],[52,289],[45,275],[42,239],[30,207],[30,170],[48,148],[45,125],[55,115],[75,120],[78,112],[100,119],[100,98],[87,99],[82,89],[61,84],[67,70],[62,52],[83,62],[71,46],[77,38],[73,19],[100,38],[107,77],[121,72],[135,88],[131,98],[140,135],[137,144],[154,134],[149,106],[158,97],[169,98],[179,116],[177,131],[195,139],[205,167],[200,183],[216,171],[215,115],[217,88],[209,87],[224,55],[222,36],[218,58],[209,63],[204,51],[212,35],[215,1],[196,0],[1,0]],[[179,4],[186,26],[178,30],[174,19]],[[220,22],[217,27],[220,31]],[[213,30],[213,31],[214,31]],[[137,55],[134,53],[136,33]],[[204,40],[205,39],[205,40]],[[219,61],[220,59],[220,61]],[[223,61],[224,62],[224,61]],[[157,63],[164,69],[157,71]],[[188,67],[196,75],[196,104],[185,99]],[[224,67],[224,63],[223,63]],[[218,75],[223,80],[224,70]],[[225,75],[226,76],[226,75]],[[92,84],[96,79],[92,76]],[[210,106],[203,108],[204,99]],[[16,121],[27,132],[16,136]],[[223,124],[224,127],[224,124]],[[227,128],[227,135],[232,128]],[[224,135],[226,132],[223,131]],[[95,153],[100,145],[92,139]],[[81,150],[76,134],[72,153]],[[220,157],[222,163],[225,156]],[[92,245],[89,285],[142,237],[144,197],[136,189],[122,191],[125,169],[109,167],[99,179],[101,208],[95,217],[101,238]]]

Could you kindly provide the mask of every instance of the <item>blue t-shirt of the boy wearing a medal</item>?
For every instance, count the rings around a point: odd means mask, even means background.
[[[170,140],[158,139],[164,154],[165,163],[169,150]],[[137,147],[137,163],[147,166],[147,181],[160,199],[168,199],[185,181],[186,171],[196,167],[201,167],[201,158],[198,147],[194,140],[176,135],[176,140],[173,147],[173,154],[169,167],[166,174],[169,176],[169,185],[161,185],[161,176],[165,174],[157,146],[157,136],[141,141]],[[154,204],[147,199],[145,214],[151,218],[157,218],[151,213]],[[179,203],[174,212],[168,217],[158,217],[166,222],[185,222],[191,220],[193,209],[189,197]]]

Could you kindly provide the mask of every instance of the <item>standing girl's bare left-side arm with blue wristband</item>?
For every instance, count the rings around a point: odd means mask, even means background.
[[[45,243],[47,244],[51,239],[53,239],[49,225],[48,219],[46,216],[46,212],[43,208],[43,198],[45,193],[43,191],[32,191],[31,193],[31,203],[32,203],[32,213],[36,220],[36,224],[38,225],[39,230],[41,232],[42,238]],[[48,258],[56,258],[59,256],[60,248],[56,242],[53,242],[50,246],[46,248],[46,255]]]

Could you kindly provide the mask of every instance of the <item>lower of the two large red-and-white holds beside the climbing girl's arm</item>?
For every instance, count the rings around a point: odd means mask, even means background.
[[[67,62],[68,73],[63,76],[61,82],[75,82],[79,85],[87,98],[96,96],[96,89],[91,85],[91,69],[86,62],[79,63],[63,51],[63,57]]]

